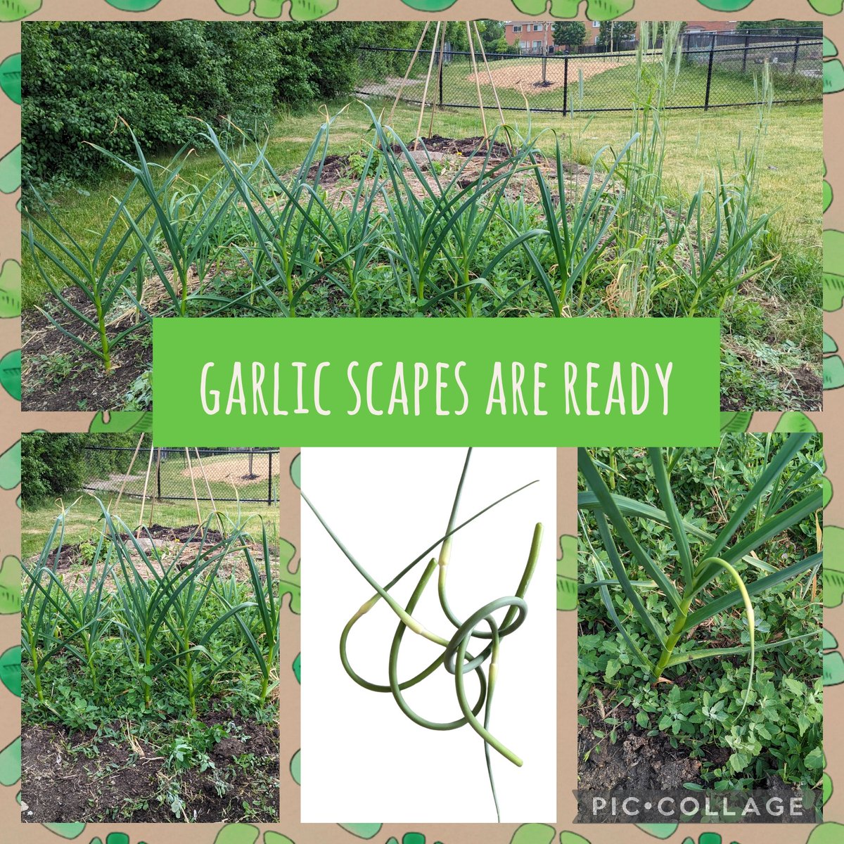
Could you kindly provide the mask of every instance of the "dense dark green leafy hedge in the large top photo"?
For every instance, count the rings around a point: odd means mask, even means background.
[[[196,143],[194,117],[261,136],[279,106],[354,89],[361,44],[415,46],[418,23],[32,22],[21,27],[23,176],[90,176],[88,143],[131,154]]]

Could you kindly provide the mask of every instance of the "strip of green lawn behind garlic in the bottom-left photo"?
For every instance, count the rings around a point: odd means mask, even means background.
[[[73,505],[70,515],[65,522],[65,545],[83,542],[85,539],[96,536],[102,529],[100,506],[94,497],[85,492],[80,492],[78,496],[81,497]],[[68,495],[64,500],[65,506],[68,506],[73,500],[73,497]],[[112,500],[116,500],[116,494],[113,495]],[[107,503],[107,501],[107,498],[103,498],[103,503]],[[150,504],[151,502],[148,500],[143,510],[144,524],[149,524]],[[270,547],[278,549],[279,506],[277,504],[273,506],[267,506],[266,504],[243,504],[240,507],[240,511],[238,511],[238,506],[235,502],[221,501],[217,509],[233,520],[237,520],[238,517],[246,518],[253,514],[262,517],[264,524],[267,525]],[[140,511],[140,500],[138,498],[127,498],[124,494],[120,502],[120,507],[116,510],[116,513],[114,511],[112,513],[121,517],[129,527],[134,527],[138,524]],[[200,501],[199,511],[202,514],[203,520],[207,519],[211,514],[211,503],[209,501]],[[41,553],[47,533],[50,532],[58,513],[59,506],[52,502],[35,508],[24,507],[20,517],[20,550],[24,560]],[[152,517],[156,524],[165,525],[166,527],[195,525],[197,523],[197,508],[192,500],[156,501]],[[248,527],[252,529],[255,535],[260,534],[261,524],[257,518],[253,518]]]

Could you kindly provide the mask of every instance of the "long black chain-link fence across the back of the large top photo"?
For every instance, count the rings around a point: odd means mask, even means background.
[[[695,46],[706,36],[706,46]],[[738,39],[738,43],[735,43]],[[805,103],[823,95],[823,41],[817,38],[752,38],[722,33],[690,33],[681,50],[682,64],[669,108],[708,111],[726,106],[751,106],[758,102],[755,80],[762,68],[771,68],[774,101]],[[366,46],[360,50],[363,97],[394,98],[419,105],[452,109],[478,108],[478,89],[484,109],[497,111],[495,94],[503,111],[537,112],[629,111],[636,95],[636,53],[554,52],[547,55],[487,53],[482,57],[451,50],[420,50],[403,85],[414,51]],[[646,62],[661,54],[648,51]],[[432,68],[425,92],[425,79]]]

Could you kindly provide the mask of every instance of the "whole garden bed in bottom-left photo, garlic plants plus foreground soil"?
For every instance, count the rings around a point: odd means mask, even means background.
[[[256,544],[210,516],[204,544],[192,525],[136,540],[97,504],[105,538],[52,549],[73,530],[62,508],[21,560],[24,820],[277,820],[266,528]]]

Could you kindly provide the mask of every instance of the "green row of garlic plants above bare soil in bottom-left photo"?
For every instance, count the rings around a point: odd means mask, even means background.
[[[278,578],[266,530],[256,549],[243,525],[218,515],[215,530],[212,516],[170,554],[100,509],[105,529],[78,547],[79,571],[62,565],[69,510],[38,560],[22,563],[27,707],[47,720],[50,712],[71,717],[70,701],[81,695],[98,701],[96,711],[164,707],[195,717],[197,701],[233,687],[263,706],[278,676],[279,647]]]

